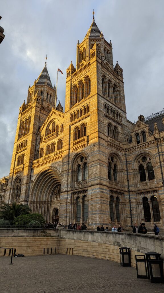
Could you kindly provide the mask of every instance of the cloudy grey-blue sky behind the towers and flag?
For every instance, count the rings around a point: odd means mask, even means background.
[[[163,110],[163,0],[5,0],[0,25],[0,177],[10,171],[19,107],[29,84],[47,68],[52,84],[57,66],[58,98],[64,106],[66,69],[76,65],[76,44],[92,23],[112,42],[114,66],[123,68],[127,118],[134,122]]]

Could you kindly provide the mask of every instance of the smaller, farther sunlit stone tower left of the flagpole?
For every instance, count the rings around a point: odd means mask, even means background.
[[[47,59],[47,58],[46,58]],[[5,201],[27,203],[30,190],[32,162],[35,159],[38,131],[55,105],[53,88],[47,66],[34,85],[28,88],[27,102],[19,109],[8,189]]]

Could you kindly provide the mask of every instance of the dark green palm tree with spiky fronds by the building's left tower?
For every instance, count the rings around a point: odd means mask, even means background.
[[[16,204],[15,201],[12,203],[12,205],[4,203],[1,207],[0,218],[9,220],[12,224],[16,217],[29,214],[30,211],[31,209],[28,207],[28,205],[23,205],[22,203]]]

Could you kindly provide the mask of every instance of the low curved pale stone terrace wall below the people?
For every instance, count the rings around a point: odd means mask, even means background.
[[[25,256],[45,254],[73,254],[120,262],[119,247],[131,250],[131,265],[135,254],[148,251],[161,253],[164,258],[164,237],[133,233],[53,229],[0,229],[0,246],[16,248]],[[44,250],[45,248],[45,250]],[[0,249],[0,256],[4,249]],[[6,251],[8,255],[8,251]]]

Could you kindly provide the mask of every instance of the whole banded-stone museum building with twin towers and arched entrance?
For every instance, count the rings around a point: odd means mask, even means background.
[[[1,202],[27,203],[47,222],[162,229],[164,112],[127,120],[123,69],[94,18],[67,69],[64,113],[55,97],[45,64],[20,107]]]

